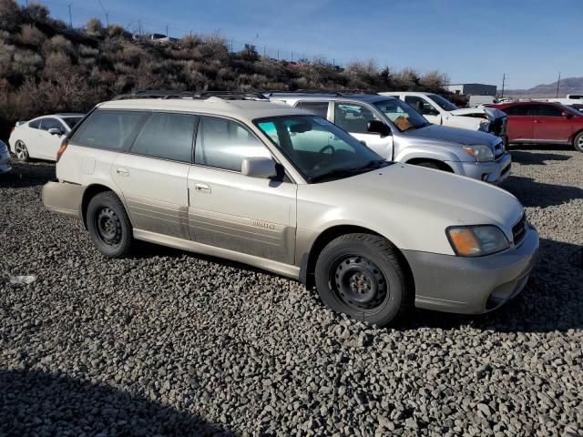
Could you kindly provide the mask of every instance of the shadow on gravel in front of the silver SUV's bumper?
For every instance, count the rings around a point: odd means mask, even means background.
[[[583,189],[568,185],[545,184],[533,178],[511,176],[500,188],[514,194],[525,207],[547,208],[583,198]]]

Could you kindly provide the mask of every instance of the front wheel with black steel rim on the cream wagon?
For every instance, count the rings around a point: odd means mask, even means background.
[[[333,239],[322,249],[314,273],[324,304],[379,326],[401,316],[413,296],[396,249],[375,235]]]

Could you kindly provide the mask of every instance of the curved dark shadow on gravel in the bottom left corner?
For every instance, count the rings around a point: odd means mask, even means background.
[[[0,370],[0,387],[0,435],[235,435],[188,412],[62,374]]]

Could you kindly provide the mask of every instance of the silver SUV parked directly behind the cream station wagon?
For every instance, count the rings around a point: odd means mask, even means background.
[[[496,184],[510,175],[512,159],[502,138],[433,125],[395,97],[343,93],[266,95],[271,101],[327,118],[391,161],[437,168]]]

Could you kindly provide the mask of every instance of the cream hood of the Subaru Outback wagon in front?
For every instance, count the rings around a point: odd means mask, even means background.
[[[440,229],[453,225],[492,224],[502,229],[509,239],[512,226],[524,210],[518,199],[502,188],[403,163],[334,180],[327,185],[340,189],[344,199],[357,199],[369,207],[384,203],[395,215],[400,210],[408,211],[401,218],[404,221],[417,216],[424,220],[424,226],[436,225]],[[410,214],[411,211],[417,214]]]

